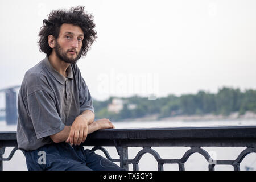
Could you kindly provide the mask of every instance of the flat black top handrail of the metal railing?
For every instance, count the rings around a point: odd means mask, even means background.
[[[82,145],[255,146],[255,143],[256,126],[207,126],[104,129],[89,134]],[[0,147],[7,145],[16,146],[16,131],[0,131]]]

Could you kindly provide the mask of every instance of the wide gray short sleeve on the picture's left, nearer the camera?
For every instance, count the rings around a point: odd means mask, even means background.
[[[51,94],[38,90],[27,96],[27,111],[32,120],[36,138],[40,139],[64,129]]]

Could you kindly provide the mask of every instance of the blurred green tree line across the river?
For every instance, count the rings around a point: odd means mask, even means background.
[[[96,118],[109,118],[119,121],[127,118],[139,118],[150,114],[158,114],[159,118],[175,115],[216,114],[229,115],[238,111],[240,115],[246,111],[256,113],[256,90],[233,89],[223,87],[218,93],[199,91],[197,94],[184,94],[177,97],[173,94],[167,97],[148,100],[147,97],[133,96],[119,98],[124,102],[119,113],[108,111],[108,105],[114,97],[105,101],[93,100]],[[135,109],[129,109],[129,104],[136,105]]]

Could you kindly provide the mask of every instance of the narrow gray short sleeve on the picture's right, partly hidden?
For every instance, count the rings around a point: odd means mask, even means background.
[[[81,79],[81,84],[79,88],[79,104],[80,114],[85,110],[90,110],[94,113],[92,96],[90,96],[90,92],[84,81],[84,78]]]

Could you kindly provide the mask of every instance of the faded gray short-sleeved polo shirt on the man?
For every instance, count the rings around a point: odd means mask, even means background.
[[[19,90],[18,147],[36,150],[53,143],[49,136],[72,125],[85,110],[94,113],[92,97],[77,65],[69,65],[65,78],[46,56],[26,72]]]

